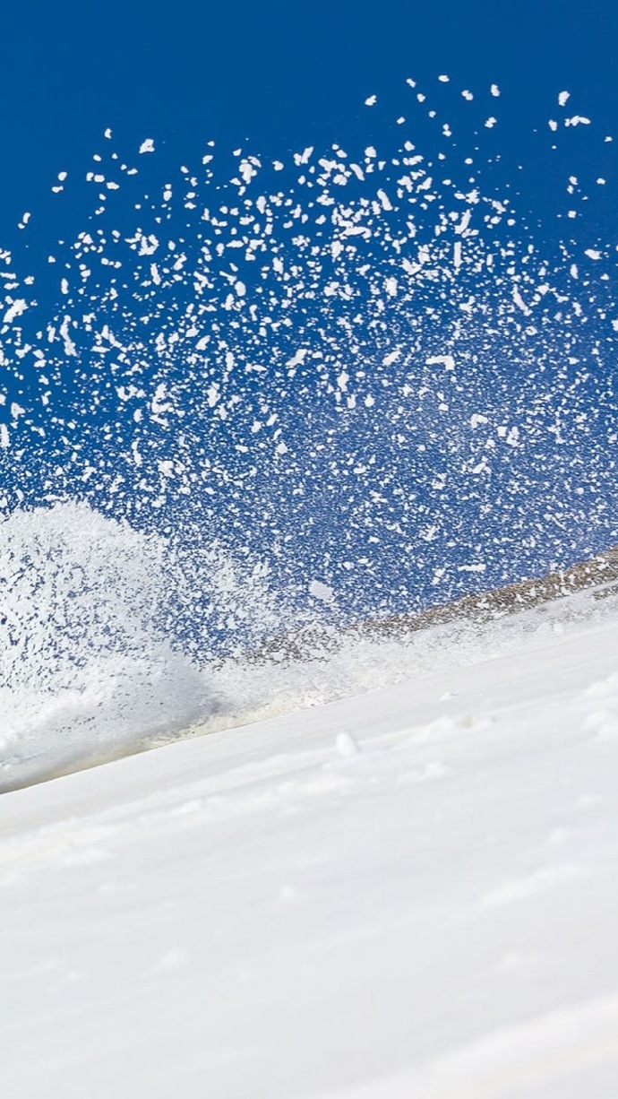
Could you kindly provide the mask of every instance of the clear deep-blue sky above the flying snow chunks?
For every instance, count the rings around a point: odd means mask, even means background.
[[[613,0],[5,4],[0,240],[105,126],[127,141],[153,133],[179,159],[207,137],[265,152],[346,142],[367,130],[366,96],[384,102],[406,76],[438,71],[463,86],[499,79],[523,147],[559,87],[609,125],[617,41]]]

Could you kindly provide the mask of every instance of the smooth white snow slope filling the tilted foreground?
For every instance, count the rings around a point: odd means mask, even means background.
[[[4,795],[3,1099],[614,1099],[618,615],[521,637]]]

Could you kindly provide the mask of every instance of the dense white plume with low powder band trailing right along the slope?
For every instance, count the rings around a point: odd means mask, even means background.
[[[311,588],[330,604],[329,589]],[[618,599],[613,588],[600,601],[580,592],[492,625],[341,632],[291,610],[255,563],[220,546],[189,555],[76,503],[0,522],[0,792],[409,684],[524,640],[542,648],[554,633],[615,615]],[[200,612],[198,646],[178,629],[179,607]]]

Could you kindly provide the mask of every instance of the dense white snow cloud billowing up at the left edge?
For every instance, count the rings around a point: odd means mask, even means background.
[[[189,560],[86,504],[0,522],[0,787],[213,711],[204,667],[173,636],[198,588],[207,636],[263,637],[273,621],[259,570],[244,577],[216,547]]]

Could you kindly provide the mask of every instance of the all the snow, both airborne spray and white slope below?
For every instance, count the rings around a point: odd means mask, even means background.
[[[616,542],[610,165],[429,107],[0,251],[2,1099],[614,1099],[618,598],[382,629]]]

